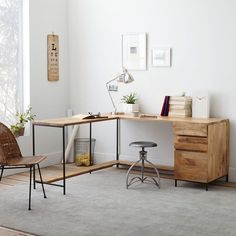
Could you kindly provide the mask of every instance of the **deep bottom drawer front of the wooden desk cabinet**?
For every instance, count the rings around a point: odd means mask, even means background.
[[[207,183],[207,154],[175,150],[175,179]]]

